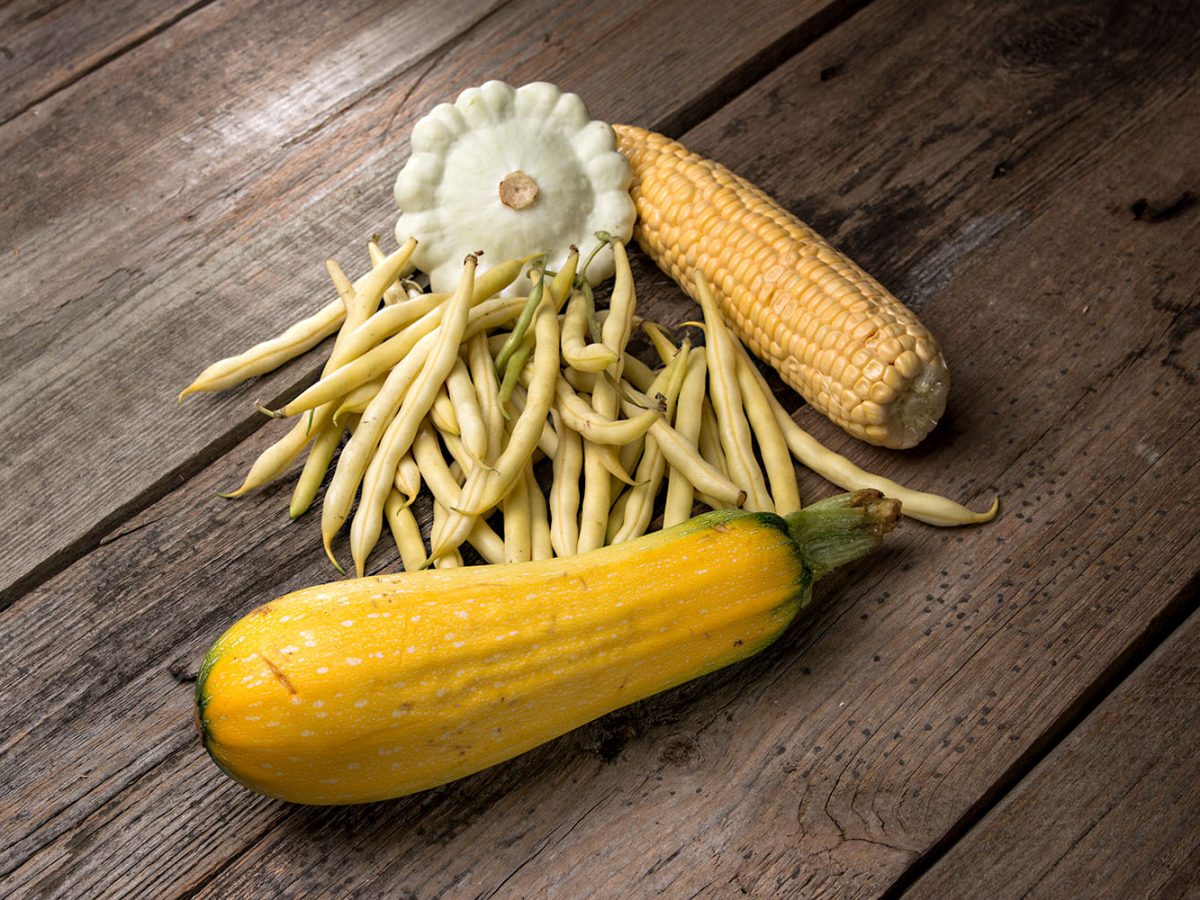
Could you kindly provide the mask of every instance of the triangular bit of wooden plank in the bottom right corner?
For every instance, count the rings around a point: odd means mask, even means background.
[[[1198,690],[1193,613],[906,896],[1195,892]]]

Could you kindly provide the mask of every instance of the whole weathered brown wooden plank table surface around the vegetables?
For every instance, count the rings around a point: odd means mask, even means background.
[[[1200,896],[1198,32],[1188,0],[5,4],[0,895]],[[463,781],[253,796],[198,660],[331,572],[294,472],[216,492],[324,348],[174,397],[325,302],[414,121],[488,78],[718,158],[916,307],[954,377],[920,448],[788,403],[1003,511],[908,522],[749,662]]]

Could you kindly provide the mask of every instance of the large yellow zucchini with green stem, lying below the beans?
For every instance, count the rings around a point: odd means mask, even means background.
[[[860,491],[786,518],[718,510],[565,559],[298,590],[209,650],[204,745],[242,785],[296,803],[469,775],[758,652],[898,512]]]

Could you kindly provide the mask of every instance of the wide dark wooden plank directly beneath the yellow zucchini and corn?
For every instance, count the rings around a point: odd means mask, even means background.
[[[824,587],[806,630],[508,766],[306,810],[216,773],[173,674],[253,602],[328,572],[311,523],[281,523],[286,486],[212,502],[265,445],[256,433],[0,614],[4,889],[896,883],[1192,602],[1200,266],[1196,216],[1175,200],[1193,184],[1194,50],[1178,17],[1114,30],[1097,8],[881,1],[686,136],[835,234],[942,335],[954,403],[929,446],[883,454],[805,424],[923,486],[1000,491],[1000,522],[906,528]],[[930,48],[946,60],[932,71]],[[690,314],[664,280],[641,281],[655,314]]]

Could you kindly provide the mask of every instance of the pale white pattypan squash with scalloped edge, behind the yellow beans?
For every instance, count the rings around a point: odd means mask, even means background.
[[[628,241],[636,216],[629,162],[610,125],[552,84],[487,82],[440,103],[413,127],[412,156],[396,178],[396,240],[416,238],[413,263],[433,290],[454,290],[467,253],[484,265],[546,252],[557,269],[593,234]],[[612,275],[612,253],[588,269]],[[510,293],[528,290],[522,277]]]

